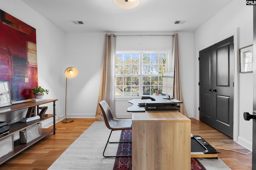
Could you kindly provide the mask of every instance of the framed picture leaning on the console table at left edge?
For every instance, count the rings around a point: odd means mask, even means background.
[[[11,105],[9,82],[0,81],[0,107]]]

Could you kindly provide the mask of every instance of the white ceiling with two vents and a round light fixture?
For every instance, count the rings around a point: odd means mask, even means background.
[[[141,0],[129,10],[112,0],[22,1],[65,32],[118,33],[193,32],[232,0]]]

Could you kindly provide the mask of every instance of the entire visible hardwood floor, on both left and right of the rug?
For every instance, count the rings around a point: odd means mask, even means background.
[[[0,165],[0,170],[47,170],[51,164],[88,128],[96,119],[74,119],[72,123],[56,123],[56,135],[49,135],[32,147]],[[52,127],[49,127],[52,128]],[[230,137],[212,127],[191,118],[191,133],[200,135],[210,145],[225,149],[234,149],[247,153]],[[217,149],[218,157],[232,170],[251,170],[252,153],[248,155],[234,151]]]

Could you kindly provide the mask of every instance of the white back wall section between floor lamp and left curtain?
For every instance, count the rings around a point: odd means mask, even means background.
[[[68,79],[67,116],[95,117],[105,33],[66,33],[64,66],[78,68]]]

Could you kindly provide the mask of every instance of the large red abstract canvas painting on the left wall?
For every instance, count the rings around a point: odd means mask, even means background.
[[[8,81],[12,104],[34,98],[38,86],[36,29],[0,10],[0,81]]]

